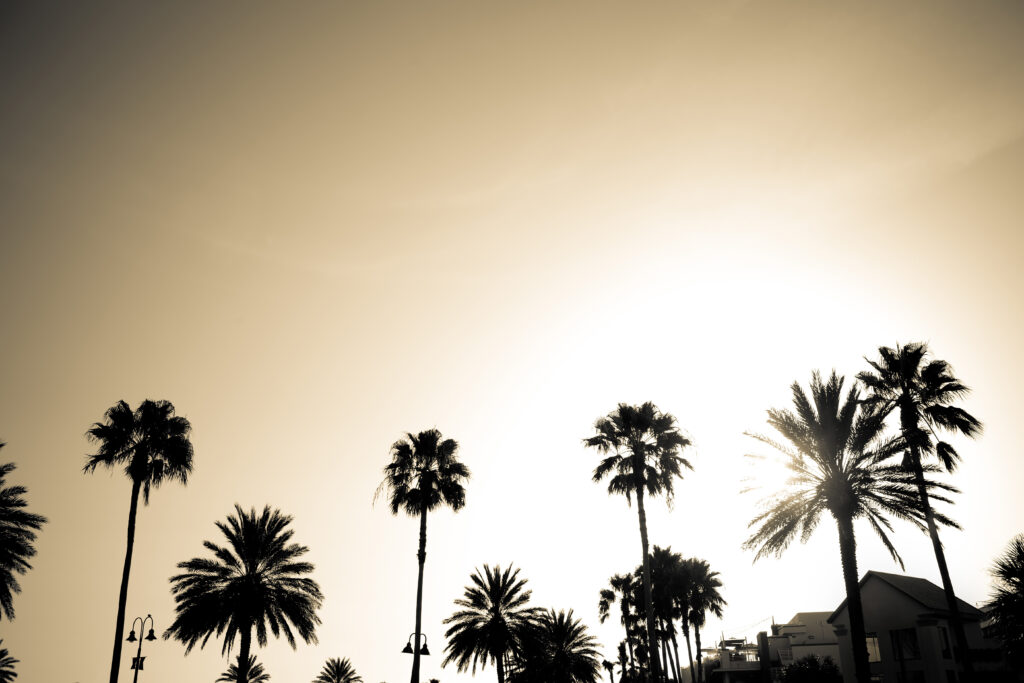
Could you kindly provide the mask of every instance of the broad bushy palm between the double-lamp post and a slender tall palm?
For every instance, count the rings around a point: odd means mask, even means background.
[[[295,633],[306,643],[316,642],[316,610],[324,600],[319,586],[308,579],[313,570],[299,558],[308,548],[289,543],[292,518],[280,510],[264,507],[246,512],[234,506],[234,515],[217,528],[227,545],[209,541],[203,545],[214,559],[195,557],[179,562],[182,573],[171,577],[176,615],[164,633],[185,646],[185,654],[196,645],[206,646],[210,637],[223,634],[221,653],[226,654],[238,636],[238,683],[247,683],[253,630],[259,645],[267,642],[267,627],[274,637],[284,634],[295,648]],[[294,633],[293,633],[294,631]]]

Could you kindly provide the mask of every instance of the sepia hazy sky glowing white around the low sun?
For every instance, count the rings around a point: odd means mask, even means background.
[[[582,439],[622,401],[693,441],[647,514],[721,573],[706,643],[834,609],[827,524],[740,548],[740,489],[779,480],[743,433],[812,371],[925,341],[985,424],[942,537],[983,602],[1024,530],[1022,31],[998,1],[5,3],[0,440],[49,519],[0,624],[19,680],[106,680],[130,484],[82,466],[120,399],[172,401],[196,450],[139,511],[129,621],[166,629],[175,564],[236,503],[278,507],[326,600],[318,644],[259,650],[275,681],[408,678],[418,525],[374,492],[406,432],[458,440],[423,680],[469,681],[442,621],[484,563],[613,658],[598,592],[640,562],[636,510]],[[861,572],[899,570],[858,539]],[[938,583],[927,537],[893,539]],[[148,683],[226,668],[213,641],[143,654]]]

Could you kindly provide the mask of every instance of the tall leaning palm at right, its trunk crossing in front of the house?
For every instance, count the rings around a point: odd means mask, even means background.
[[[959,455],[948,442],[939,440],[936,431],[964,434],[973,438],[981,433],[981,422],[964,409],[952,404],[966,396],[970,389],[953,376],[952,368],[945,360],[929,359],[927,344],[897,344],[896,348],[882,346],[879,348],[878,360],[865,360],[873,372],[858,373],[857,379],[868,389],[867,401],[879,410],[896,411],[899,415],[900,432],[908,446],[904,466],[913,472],[918,483],[928,533],[939,565],[953,637],[956,639],[957,653],[965,678],[970,681],[974,677],[971,648],[964,633],[964,621],[929,501],[922,461],[925,456],[934,456],[946,472],[952,473],[956,469]]]

